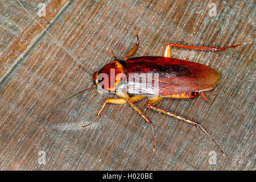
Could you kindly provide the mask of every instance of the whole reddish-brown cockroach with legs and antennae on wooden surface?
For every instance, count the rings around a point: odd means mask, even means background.
[[[18,3],[23,7],[25,11],[27,11],[19,1]],[[55,38],[53,38],[53,36],[46,30],[46,28],[44,28],[28,11],[27,13],[32,17],[32,19],[36,21],[36,23],[38,23],[43,28],[44,31],[47,32],[49,36],[51,36],[53,40],[55,40]],[[134,27],[134,30],[137,34],[137,44],[135,44],[133,49],[127,53],[125,60],[118,60],[112,51],[114,61],[106,64],[100,69],[100,71],[93,72],[89,68],[85,67],[85,69],[93,75],[94,82],[94,85],[88,89],[94,89],[97,87],[98,89],[114,93],[119,98],[110,98],[106,100],[100,111],[98,111],[97,117],[88,125],[82,126],[82,128],[92,125],[92,123],[94,123],[96,119],[100,117],[100,114],[102,113],[102,110],[104,110],[106,104],[122,105],[127,103],[133,107],[133,109],[136,110],[151,126],[153,134],[153,150],[155,151],[156,136],[152,122],[146,115],[143,114],[141,110],[138,109],[137,106],[134,105],[134,102],[149,97],[147,102],[148,108],[200,127],[200,129],[203,130],[204,133],[206,133],[210,139],[213,140],[218,149],[221,151],[222,155],[225,155],[224,151],[222,151],[220,146],[218,146],[217,142],[207,133],[207,131],[200,125],[199,122],[192,121],[191,119],[187,119],[180,115],[171,113],[170,111],[155,106],[155,104],[163,98],[193,98],[199,96],[199,94],[209,102],[208,98],[203,92],[214,88],[214,86],[216,86],[220,81],[220,74],[207,65],[171,57],[172,47],[221,51],[228,48],[235,48],[245,43],[223,48],[188,46],[176,43],[168,43],[164,49],[163,56],[142,56],[130,58],[130,56],[139,47],[139,36],[137,28]],[[67,51],[67,49],[65,49],[56,40],[55,42],[58,46],[63,48],[64,51],[67,52],[74,60],[81,64],[81,62],[77,60],[75,56]],[[81,92],[84,92],[85,90],[82,90]]]

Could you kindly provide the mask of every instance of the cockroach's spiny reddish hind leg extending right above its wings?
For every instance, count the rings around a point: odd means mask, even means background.
[[[184,49],[190,49],[190,50],[205,50],[205,51],[222,51],[224,49],[228,48],[236,48],[238,46],[242,46],[245,43],[242,44],[237,44],[235,46],[228,46],[228,47],[207,47],[207,46],[188,46],[188,45],[183,45],[183,44],[176,44],[176,43],[168,43],[166,44],[166,47],[164,48],[164,57],[171,57],[171,48],[177,47],[177,48],[184,48]]]

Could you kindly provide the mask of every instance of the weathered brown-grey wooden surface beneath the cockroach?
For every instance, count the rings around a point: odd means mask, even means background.
[[[37,15],[46,3],[46,17]],[[217,5],[209,16],[208,4]],[[169,42],[230,46],[255,39],[255,1],[22,1],[73,55],[93,71],[134,56],[162,55]],[[67,55],[16,1],[0,1],[0,121],[2,170],[255,170],[255,48],[246,44],[220,53],[174,48],[172,56],[207,64],[220,84],[191,100],[164,99],[158,106],[201,122],[226,152],[223,158],[203,131],[136,105],[152,119],[152,133],[129,105],[108,105],[88,91],[92,76]],[[38,164],[39,151],[46,164]],[[216,151],[216,164],[209,152]]]

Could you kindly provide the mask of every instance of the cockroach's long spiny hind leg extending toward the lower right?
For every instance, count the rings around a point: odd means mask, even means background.
[[[147,102],[147,107],[150,108],[150,109],[154,109],[154,110],[156,110],[156,111],[159,111],[159,112],[161,112],[161,113],[170,115],[170,116],[175,117],[175,118],[177,118],[177,119],[181,119],[181,120],[183,120],[183,121],[185,121],[185,122],[191,123],[192,125],[199,126],[200,129],[203,130],[204,133],[206,133],[206,134],[210,137],[210,139],[213,140],[213,142],[216,144],[216,146],[218,147],[218,149],[220,149],[222,155],[225,156],[225,153],[222,151],[222,149],[220,148],[220,146],[218,146],[217,142],[215,142],[215,140],[207,133],[207,131],[205,131],[205,129],[200,125],[199,122],[192,121],[191,119],[184,118],[184,117],[182,117],[182,116],[180,116],[180,115],[171,113],[171,112],[169,112],[169,111],[167,111],[167,110],[164,110],[164,109],[161,109],[161,108],[159,108],[159,107],[154,106],[154,104],[156,104],[156,102],[159,102],[159,101],[162,100],[163,98],[164,98],[164,97],[160,97],[160,96],[153,96],[153,97],[151,97],[150,100],[148,100],[148,102]]]

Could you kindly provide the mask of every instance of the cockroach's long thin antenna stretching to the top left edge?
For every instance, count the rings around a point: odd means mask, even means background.
[[[51,36],[51,38],[55,41],[55,43],[56,43],[59,47],[63,48],[64,51],[65,51],[69,56],[71,56],[73,60],[75,60],[75,61],[77,61],[79,64],[81,64],[82,67],[84,67],[88,72],[90,72],[90,73],[93,75],[93,71],[92,71],[92,70],[90,70],[89,68],[86,68],[85,65],[82,64],[81,61],[79,61],[75,56],[73,56],[71,52],[69,52],[64,46],[62,46],[60,43],[58,43],[57,40],[46,30],[46,28],[44,28],[44,27],[42,26],[42,24],[40,24],[40,23],[38,22],[38,20],[36,20],[36,19],[34,18],[34,16],[33,16],[31,13],[28,12],[28,10],[26,9],[26,7],[24,7],[24,6],[22,5],[22,3],[19,2],[19,0],[16,0],[16,1],[17,1],[17,2],[20,4],[20,6],[22,6],[23,9],[31,16],[31,18],[34,19],[35,22],[38,23],[39,26],[42,27],[43,30],[46,31],[49,36]]]

